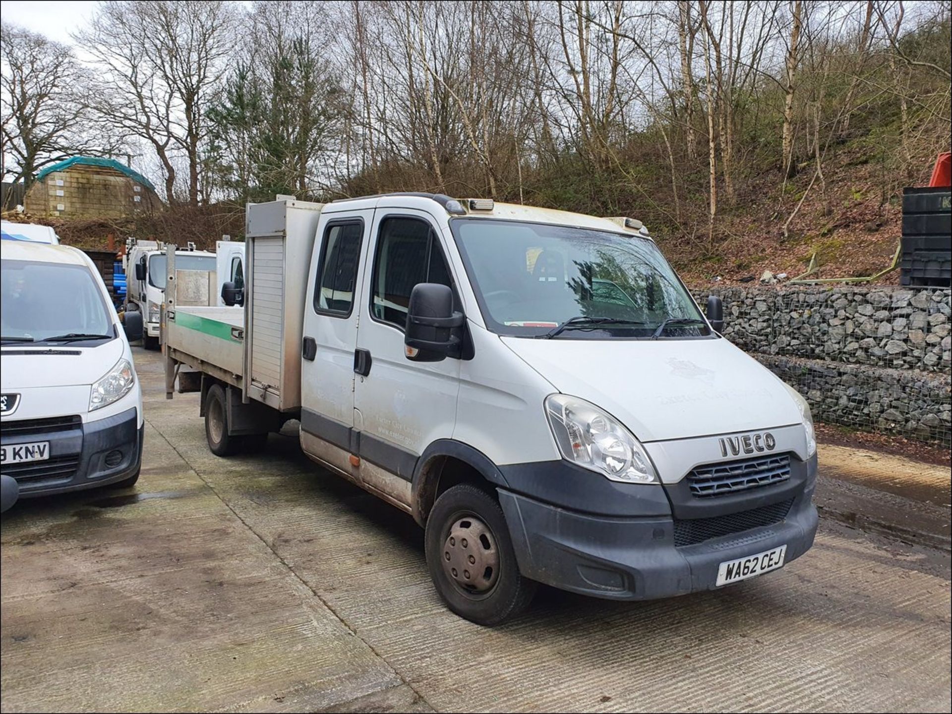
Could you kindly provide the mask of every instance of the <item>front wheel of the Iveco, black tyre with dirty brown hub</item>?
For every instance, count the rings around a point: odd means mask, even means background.
[[[537,587],[519,572],[499,503],[472,484],[447,489],[433,505],[426,565],[446,606],[486,627],[526,609]]]

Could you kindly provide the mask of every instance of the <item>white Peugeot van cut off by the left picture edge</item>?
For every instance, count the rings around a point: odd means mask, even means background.
[[[3,241],[0,274],[4,495],[10,479],[21,497],[131,486],[142,392],[95,265],[69,246]]]

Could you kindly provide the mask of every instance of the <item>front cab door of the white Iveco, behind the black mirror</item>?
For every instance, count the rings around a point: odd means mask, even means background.
[[[417,458],[452,435],[460,376],[459,359],[407,359],[410,291],[418,282],[454,280],[442,232],[425,211],[378,208],[371,234],[353,364],[360,477],[368,490],[408,508]]]

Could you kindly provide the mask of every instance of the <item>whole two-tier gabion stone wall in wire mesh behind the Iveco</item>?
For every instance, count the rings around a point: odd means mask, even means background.
[[[950,446],[952,290],[755,286],[724,300],[724,337],[810,403],[818,420]]]

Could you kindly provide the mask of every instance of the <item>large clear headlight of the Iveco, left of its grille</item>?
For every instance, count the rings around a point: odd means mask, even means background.
[[[623,483],[658,483],[645,447],[622,424],[575,396],[545,398],[545,415],[568,461]]]

